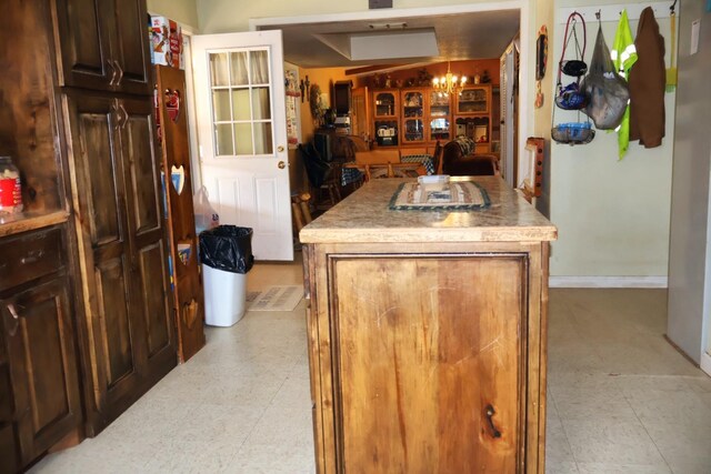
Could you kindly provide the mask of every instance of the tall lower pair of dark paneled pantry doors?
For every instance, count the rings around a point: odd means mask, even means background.
[[[62,102],[100,431],[177,363],[152,104],[79,90]]]

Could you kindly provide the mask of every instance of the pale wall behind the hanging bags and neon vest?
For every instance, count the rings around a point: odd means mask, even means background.
[[[555,7],[604,3],[610,2],[559,0]],[[614,3],[637,2],[615,0]],[[658,22],[669,44],[669,19],[658,19]],[[638,21],[630,21],[633,36]],[[564,23],[555,26],[555,41],[550,49],[553,69],[560,59],[564,27]],[[603,22],[602,30],[611,47],[617,21]],[[597,21],[588,22],[588,63],[597,32]],[[570,81],[571,78],[563,75],[564,85]],[[554,84],[548,97],[553,94]],[[662,147],[648,150],[631,142],[622,161],[618,161],[614,132],[598,131],[594,140],[585,145],[551,145],[550,218],[559,229],[551,255],[551,275],[661,276],[662,280],[667,275],[674,94],[667,94],[665,108],[667,137]],[[580,120],[585,120],[585,115]],[[569,121],[579,121],[575,112],[555,110],[557,123]]]

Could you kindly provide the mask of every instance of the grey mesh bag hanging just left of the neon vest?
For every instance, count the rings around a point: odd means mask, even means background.
[[[614,69],[610,50],[604,42],[602,28],[598,28],[595,49],[590,61],[590,71],[581,83],[581,90],[590,98],[583,110],[600,130],[614,130],[630,101],[627,81]]]

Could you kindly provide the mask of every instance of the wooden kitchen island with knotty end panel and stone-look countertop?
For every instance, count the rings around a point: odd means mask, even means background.
[[[543,474],[557,230],[471,180],[487,208],[391,210],[407,180],[373,180],[302,229],[319,473]]]

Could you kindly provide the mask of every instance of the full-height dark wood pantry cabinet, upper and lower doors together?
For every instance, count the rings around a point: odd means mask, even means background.
[[[56,0],[54,6],[60,84],[71,85],[60,92],[92,435],[177,364],[169,249],[153,141],[146,2]],[[96,38],[101,51],[86,38]],[[110,72],[108,83],[97,79],[107,74],[87,72],[100,59],[102,71]]]

